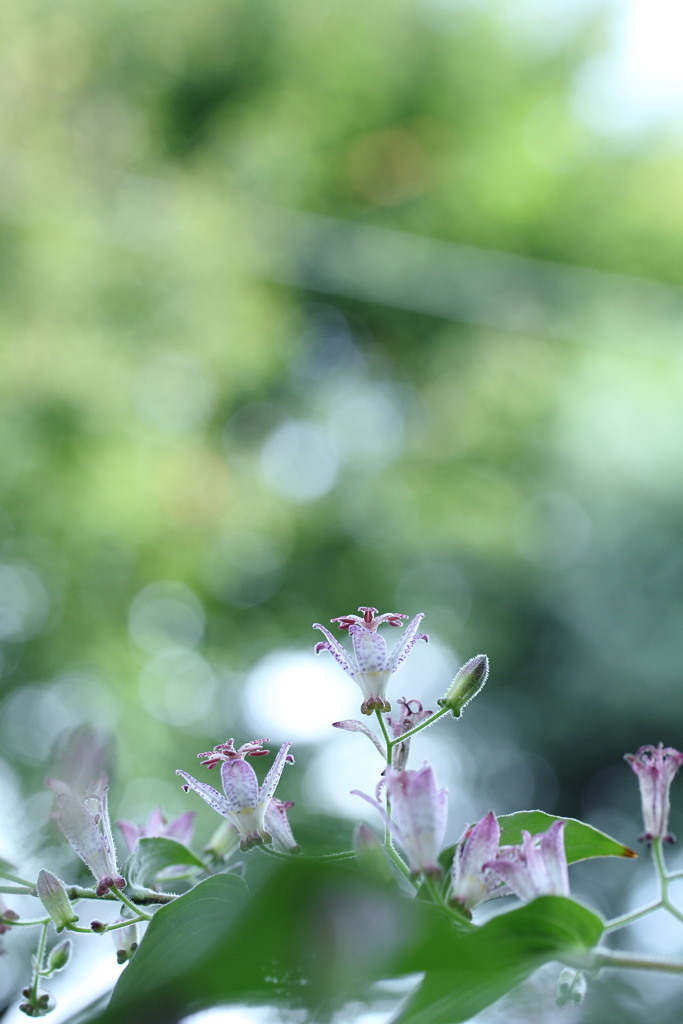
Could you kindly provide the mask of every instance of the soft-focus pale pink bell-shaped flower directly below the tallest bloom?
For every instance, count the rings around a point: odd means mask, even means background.
[[[391,818],[380,803],[383,785],[386,785]],[[447,790],[436,788],[430,765],[425,764],[420,771],[387,768],[384,779],[377,787],[376,800],[358,790],[351,792],[380,812],[402,846],[414,876],[423,873],[431,879],[441,878],[443,872],[438,863],[438,852],[445,833],[449,793]]]

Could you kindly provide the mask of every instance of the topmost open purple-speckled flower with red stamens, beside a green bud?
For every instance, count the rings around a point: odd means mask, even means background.
[[[388,623],[390,626],[400,626],[401,618],[408,615],[393,611],[377,614],[377,608],[361,606],[360,615],[341,615],[333,618],[339,623],[341,630],[348,630],[353,642],[353,654],[347,651],[336,640],[332,633],[319,623],[313,623],[313,629],[319,630],[327,637],[315,644],[315,653],[328,650],[351,679],[360,687],[365,700],[360,705],[364,715],[372,715],[374,711],[391,711],[391,705],[386,699],[387,686],[391,676],[403,664],[418,640],[428,640],[426,633],[418,633],[418,627],[424,618],[424,612],[415,616],[405,628],[398,643],[389,654],[384,637],[377,632],[378,626]]]

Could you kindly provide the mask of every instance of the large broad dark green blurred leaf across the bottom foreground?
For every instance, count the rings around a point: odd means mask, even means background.
[[[463,934],[352,864],[278,863],[248,904],[243,893],[234,876],[213,876],[158,911],[98,1022],[169,1024],[234,1000],[324,1017],[378,979],[450,966]]]

